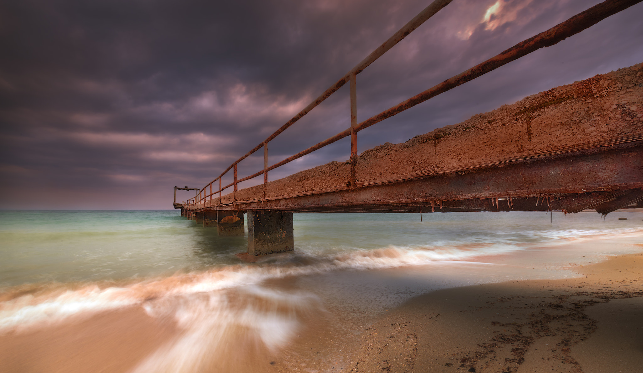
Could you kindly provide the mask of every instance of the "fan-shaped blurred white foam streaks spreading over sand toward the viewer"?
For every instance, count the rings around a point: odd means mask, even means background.
[[[152,302],[145,310],[156,317],[172,314],[183,332],[148,356],[135,373],[200,372],[214,362],[222,371],[221,365],[235,363],[231,353],[279,349],[297,331],[304,314],[323,308],[309,294],[250,286]]]

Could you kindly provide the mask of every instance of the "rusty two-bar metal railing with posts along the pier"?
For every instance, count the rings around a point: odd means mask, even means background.
[[[559,23],[545,32],[541,32],[538,35],[535,35],[534,37],[530,37],[525,41],[519,42],[518,44],[509,48],[508,50],[505,50],[502,53],[499,53],[498,55],[491,57],[491,59],[488,59],[482,62],[481,64],[474,66],[473,68],[467,69],[466,71],[458,75],[455,75],[454,77],[448,78],[447,80],[444,80],[444,82],[441,82],[440,84],[437,84],[436,86],[433,86],[430,89],[427,89],[426,91],[419,93],[418,95],[415,95],[412,98],[405,100],[404,102],[401,102],[400,104],[390,107],[389,109],[386,109],[385,111],[379,114],[376,114],[361,123],[358,123],[357,122],[357,75],[361,73],[363,69],[367,68],[370,64],[372,64],[372,62],[374,62],[379,57],[381,57],[381,55],[383,55],[386,51],[390,50],[393,46],[395,46],[395,44],[397,44],[399,41],[404,39],[406,35],[413,32],[413,30],[419,27],[422,23],[424,23],[430,17],[435,15],[437,12],[439,12],[439,10],[449,5],[451,1],[453,0],[433,1],[433,3],[431,3],[429,6],[424,8],[422,12],[420,12],[411,21],[405,24],[403,28],[401,28],[398,32],[396,32],[386,42],[381,44],[381,46],[379,46],[375,51],[370,53],[368,57],[366,57],[361,62],[359,62],[357,66],[352,68],[340,80],[338,80],[329,89],[327,89],[324,93],[322,93],[318,98],[316,98],[313,102],[311,102],[311,104],[307,105],[302,111],[300,111],[298,114],[293,116],[291,120],[289,120],[284,125],[282,125],[280,129],[278,129],[273,134],[268,136],[266,140],[262,141],[262,143],[254,147],[244,156],[237,159],[237,161],[232,163],[230,167],[226,168],[226,170],[224,170],[224,172],[222,172],[222,174],[219,175],[216,179],[214,179],[213,181],[210,181],[210,183],[208,183],[205,187],[201,188],[199,192],[197,192],[197,195],[195,197],[187,201],[188,205],[197,205],[201,203],[205,204],[206,201],[208,201],[208,197],[210,198],[210,201],[212,201],[213,196],[215,194],[219,194],[219,205],[221,205],[221,196],[222,196],[223,190],[233,187],[234,188],[233,190],[236,193],[237,185],[239,183],[241,183],[242,181],[253,179],[254,177],[260,176],[261,174],[264,175],[264,198],[265,198],[265,190],[266,190],[265,188],[268,182],[268,176],[267,176],[268,171],[274,170],[277,167],[280,167],[282,165],[285,165],[286,163],[294,161],[294,159],[301,158],[306,154],[314,152],[314,150],[325,147],[326,145],[334,143],[335,141],[338,141],[348,136],[350,136],[350,185],[354,186],[356,181],[355,163],[356,163],[356,157],[358,155],[357,134],[359,131],[367,127],[370,127],[371,125],[374,125],[378,122],[381,122],[386,118],[390,118],[395,114],[401,113],[406,109],[410,109],[411,107],[417,104],[420,104],[421,102],[424,102],[426,100],[429,100],[430,98],[440,95],[440,93],[444,93],[446,91],[449,91],[449,89],[453,89],[457,86],[460,86],[461,84],[469,82],[469,80],[473,80],[477,77],[480,77],[481,75],[484,75],[489,71],[493,71],[494,69],[500,68],[500,66],[503,66],[513,60],[519,59],[520,57],[523,57],[531,53],[532,51],[538,50],[539,48],[544,48],[544,47],[557,44],[557,42],[563,41],[567,37],[575,35],[576,33],[579,33],[585,30],[586,28],[592,26],[593,24],[598,23],[602,19],[605,19],[610,15],[616,14],[621,10],[629,8],[629,6],[640,3],[643,0],[606,0],[598,5],[592,6],[592,8],[589,8],[584,12],[574,15],[573,17],[566,20],[565,22]],[[340,87],[342,87],[347,82],[350,82],[350,128],[268,167],[267,165],[268,142],[273,140],[281,132],[284,132],[285,129],[287,129],[295,122],[297,122],[300,118],[302,118],[302,116],[309,113],[309,111],[311,111],[314,107],[321,104],[323,100],[331,96],[332,93],[340,89]],[[243,159],[250,156],[251,154],[257,152],[257,150],[261,149],[262,147],[264,148],[264,169],[250,176],[243,177],[242,179],[238,179],[237,164]],[[233,182],[223,187],[221,183],[221,179],[228,171],[230,171],[230,169],[233,170]],[[219,181],[219,190],[217,190],[216,192],[213,192],[212,185],[216,181]],[[208,193],[208,187],[210,188],[209,193]],[[233,201],[235,201],[235,198],[233,198]]]

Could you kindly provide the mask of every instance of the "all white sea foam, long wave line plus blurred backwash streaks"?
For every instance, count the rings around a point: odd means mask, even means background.
[[[26,295],[20,289],[9,288],[5,294],[13,291],[15,296],[6,296],[10,300],[0,302],[0,332],[21,332],[102,311],[142,307],[151,317],[174,320],[181,332],[145,358],[134,372],[204,371],[216,359],[232,364],[235,359],[229,355],[235,350],[261,354],[282,347],[298,331],[303,317],[323,310],[321,301],[309,293],[262,286],[262,282],[271,278],[453,262],[471,264],[480,256],[568,242],[634,237],[643,235],[643,230],[635,227],[465,233],[426,245],[391,245],[371,250],[302,244],[295,253],[274,255],[255,264],[220,265],[132,280],[121,286],[99,282],[73,287],[60,284]]]

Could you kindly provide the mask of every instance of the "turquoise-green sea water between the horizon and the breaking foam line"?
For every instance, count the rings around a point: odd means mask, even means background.
[[[628,216],[627,221],[619,221]],[[621,212],[603,220],[582,212],[423,214],[294,214],[296,254],[274,266],[320,264],[338,269],[467,260],[571,241],[625,237],[643,232],[643,213]],[[246,237],[219,237],[161,211],[1,211],[0,286],[36,282],[122,280],[167,276],[240,264]],[[359,255],[392,248],[388,263]],[[358,254],[350,264],[340,255]],[[347,260],[349,260],[347,258]],[[289,263],[286,263],[290,260]],[[334,263],[333,263],[334,262]],[[332,268],[329,268],[332,269]]]

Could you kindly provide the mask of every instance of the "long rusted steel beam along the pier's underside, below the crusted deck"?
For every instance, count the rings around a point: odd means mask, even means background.
[[[619,147],[623,147],[620,149]],[[643,141],[592,154],[559,154],[480,169],[309,196],[222,205],[212,209],[291,210],[331,206],[422,205],[430,201],[577,194],[643,187]]]

